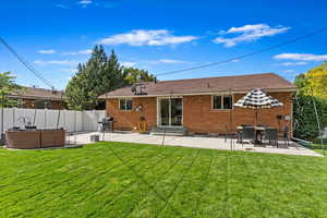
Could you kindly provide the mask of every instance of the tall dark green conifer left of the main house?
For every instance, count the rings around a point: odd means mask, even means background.
[[[65,97],[70,109],[92,110],[98,104],[98,96],[124,85],[122,66],[117,56],[110,57],[102,46],[95,46],[86,64],[78,64],[77,73],[70,80]]]

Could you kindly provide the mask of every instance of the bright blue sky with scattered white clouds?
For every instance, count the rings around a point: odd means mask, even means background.
[[[11,0],[0,36],[56,88],[96,44],[153,74],[259,50],[326,26],[327,1]],[[292,81],[327,60],[327,32],[251,58],[159,80],[275,72]],[[47,87],[0,45],[0,71]]]

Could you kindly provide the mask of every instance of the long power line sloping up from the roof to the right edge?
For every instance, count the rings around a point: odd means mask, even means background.
[[[168,72],[156,74],[156,76],[169,75],[169,74],[175,74],[175,73],[182,73],[182,72],[185,72],[185,71],[193,71],[193,70],[209,68],[209,66],[213,66],[213,65],[218,65],[218,64],[221,64],[221,63],[227,63],[227,62],[231,62],[231,61],[234,61],[234,60],[244,59],[244,58],[247,58],[247,57],[251,57],[251,56],[255,56],[257,53],[262,53],[262,52],[265,52],[265,51],[268,51],[268,50],[272,50],[272,49],[276,49],[276,48],[289,45],[289,44],[296,43],[299,40],[302,40],[304,38],[314,36],[316,34],[319,34],[319,33],[325,32],[325,31],[327,31],[327,27],[319,28],[317,31],[314,31],[312,33],[305,34],[303,36],[299,36],[296,38],[293,38],[293,39],[290,39],[290,40],[283,41],[281,44],[277,44],[275,46],[270,46],[270,47],[257,50],[257,51],[253,51],[253,52],[250,52],[250,53],[244,53],[244,55],[241,55],[241,56],[235,56],[235,57],[229,58],[227,60],[216,61],[216,62],[211,62],[211,63],[207,63],[207,64],[202,64],[202,65],[197,65],[197,66],[193,66],[193,68],[186,68],[186,69],[175,70],[175,71],[168,71]]]

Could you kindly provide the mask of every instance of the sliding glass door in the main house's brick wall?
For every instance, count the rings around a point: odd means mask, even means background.
[[[182,126],[183,98],[159,98],[159,125]]]

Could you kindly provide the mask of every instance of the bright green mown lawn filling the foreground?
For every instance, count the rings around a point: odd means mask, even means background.
[[[98,143],[0,148],[0,217],[327,217],[327,158]]]

